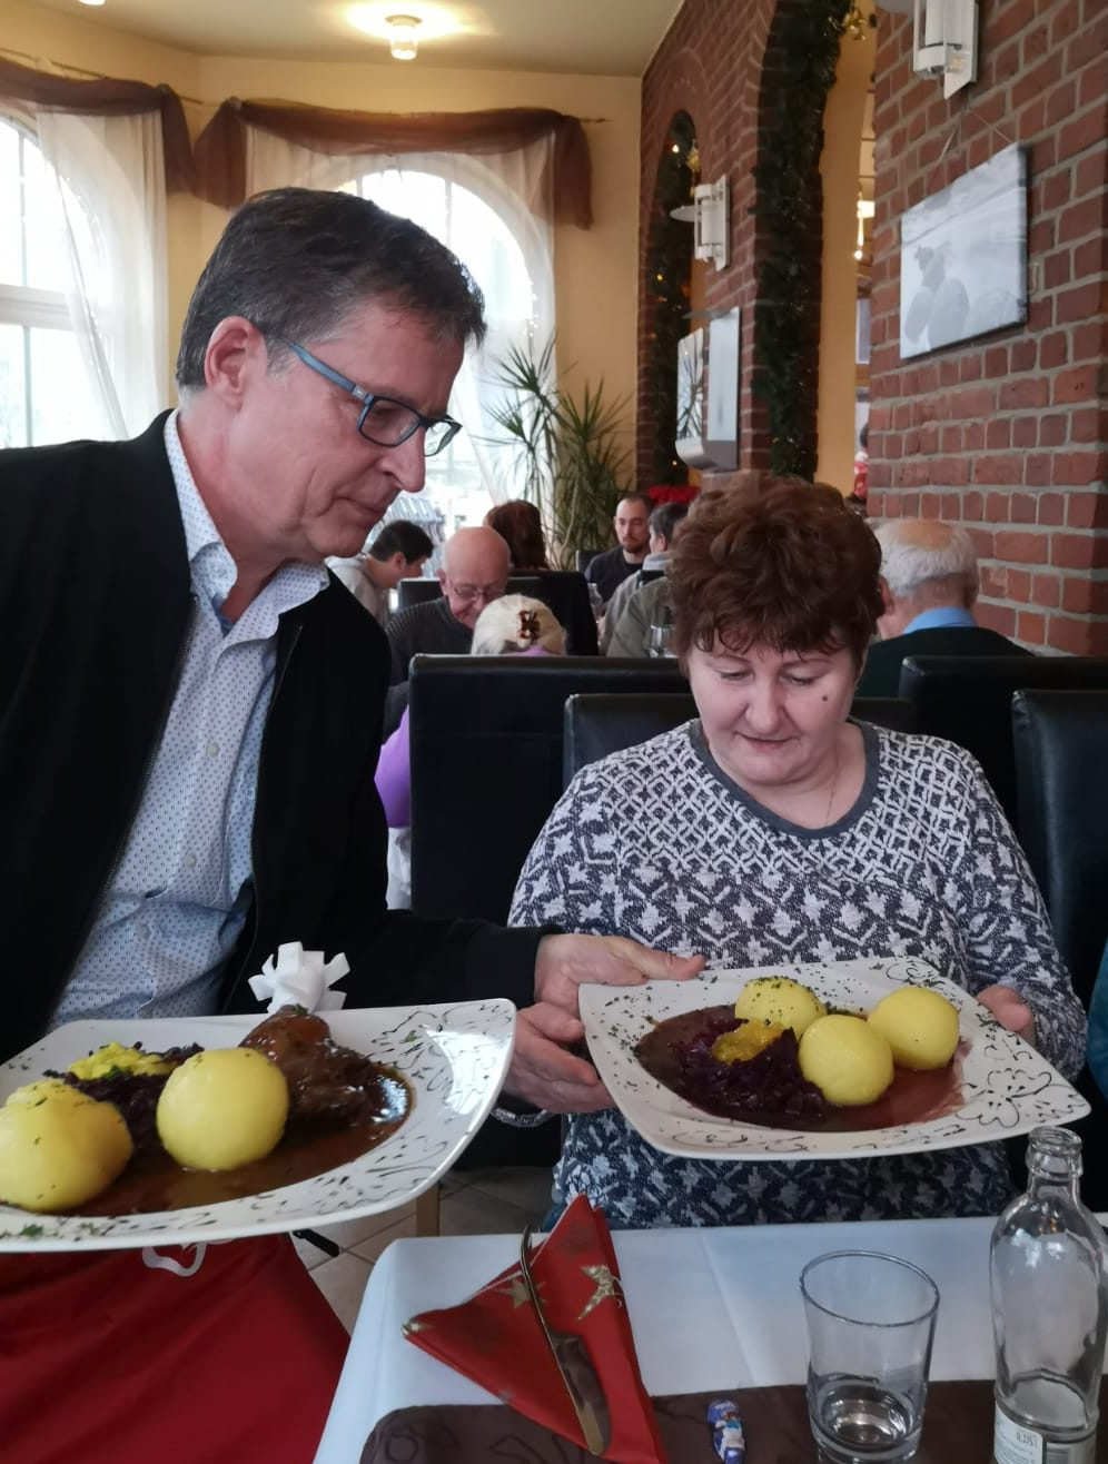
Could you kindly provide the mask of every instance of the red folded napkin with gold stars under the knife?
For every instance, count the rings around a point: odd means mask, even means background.
[[[604,1458],[666,1464],[638,1372],[619,1266],[603,1211],[578,1195],[531,1252],[531,1272],[549,1325],[580,1337],[610,1419]],[[550,1356],[518,1262],[461,1306],[420,1312],[404,1335],[432,1357],[495,1392],[509,1408],[585,1446],[574,1405]]]

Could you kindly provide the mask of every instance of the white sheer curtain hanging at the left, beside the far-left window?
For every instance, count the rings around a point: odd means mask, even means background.
[[[34,124],[57,183],[81,354],[107,430],[135,436],[168,401],[161,117],[41,108]]]

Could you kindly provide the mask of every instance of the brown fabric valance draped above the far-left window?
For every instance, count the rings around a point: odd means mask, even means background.
[[[85,117],[129,117],[160,111],[165,187],[170,193],[189,193],[193,189],[189,127],[181,100],[170,86],[119,82],[108,76],[75,81],[72,76],[51,76],[0,59],[0,98],[34,102],[35,107],[51,111],[75,111]]]

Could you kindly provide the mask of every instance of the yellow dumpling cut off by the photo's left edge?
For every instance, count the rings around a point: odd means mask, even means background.
[[[60,1079],[18,1088],[0,1108],[0,1199],[79,1209],[117,1179],[133,1145],[119,1108]]]

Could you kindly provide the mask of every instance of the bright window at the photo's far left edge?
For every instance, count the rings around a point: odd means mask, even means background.
[[[63,184],[64,187],[64,184]],[[82,264],[98,250],[72,190]],[[101,410],[66,305],[69,262],[56,179],[34,138],[0,117],[0,448],[100,436]]]

